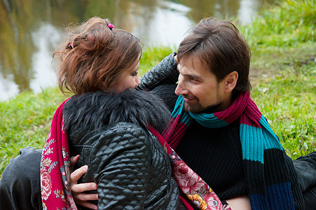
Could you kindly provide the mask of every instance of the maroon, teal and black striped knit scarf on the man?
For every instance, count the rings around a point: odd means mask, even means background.
[[[172,148],[177,147],[192,119],[209,128],[224,127],[239,119],[242,164],[252,209],[294,209],[283,148],[250,98],[250,92],[240,94],[225,111],[212,114],[184,111],[183,104],[180,95],[172,112],[172,123],[163,134]]]

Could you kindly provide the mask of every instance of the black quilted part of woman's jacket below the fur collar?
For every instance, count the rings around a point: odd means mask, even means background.
[[[90,146],[75,147],[90,165],[83,181],[97,183],[99,209],[177,209],[177,183],[155,137],[132,123],[94,133]]]

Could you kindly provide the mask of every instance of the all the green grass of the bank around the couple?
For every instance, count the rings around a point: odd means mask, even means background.
[[[252,99],[293,159],[316,151],[315,10],[315,0],[280,1],[252,25],[240,26],[252,49]],[[144,49],[139,75],[174,50]],[[43,147],[53,113],[66,98],[48,88],[0,103],[0,176],[19,148]]]

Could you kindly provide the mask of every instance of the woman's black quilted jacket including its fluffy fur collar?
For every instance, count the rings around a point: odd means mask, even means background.
[[[64,106],[64,125],[77,167],[89,165],[82,182],[97,183],[99,209],[178,209],[179,191],[156,137],[170,112],[151,94],[94,92]]]

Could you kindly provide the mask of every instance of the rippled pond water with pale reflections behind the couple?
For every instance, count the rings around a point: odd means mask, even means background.
[[[52,53],[62,27],[94,15],[110,18],[145,46],[178,45],[200,19],[251,16],[273,0],[0,0],[0,101],[55,85]]]

